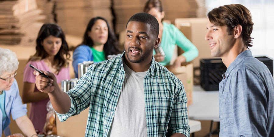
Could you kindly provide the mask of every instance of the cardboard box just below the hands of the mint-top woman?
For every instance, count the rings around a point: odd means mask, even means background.
[[[186,92],[186,96],[188,98],[187,105],[191,105],[193,103],[193,64],[190,63],[188,65],[184,65],[178,68],[170,69],[170,67],[167,67],[167,69],[172,72],[175,76],[177,76],[178,79],[181,80],[181,82],[184,85],[184,90]]]

